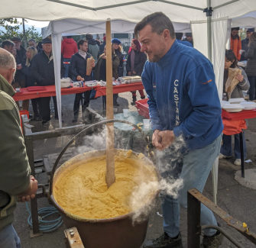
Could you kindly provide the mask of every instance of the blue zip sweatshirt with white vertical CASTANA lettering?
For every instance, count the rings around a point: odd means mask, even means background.
[[[152,129],[183,134],[187,149],[206,147],[222,134],[222,108],[212,63],[175,40],[157,62],[146,62],[142,82]]]

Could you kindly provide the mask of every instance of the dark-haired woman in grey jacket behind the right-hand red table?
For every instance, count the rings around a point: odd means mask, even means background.
[[[223,81],[223,93],[225,92],[225,83],[228,80],[228,68],[239,68],[237,66],[238,60],[235,56],[233,50],[225,51],[225,71],[224,71],[224,81]],[[241,75],[236,76],[238,79],[238,84],[235,86],[232,92],[228,92],[228,98],[243,98],[243,92],[247,91],[250,88],[250,83],[248,82],[247,75],[243,69],[241,69]],[[245,121],[242,121],[245,125]],[[225,129],[223,131],[225,133]],[[241,166],[241,153],[240,153],[240,140],[239,134],[235,134],[235,166]],[[223,134],[222,137],[222,148],[220,150],[219,159],[227,159],[232,157],[232,135]],[[246,147],[245,147],[245,135],[243,135],[243,143],[244,143],[244,156],[246,156]]]

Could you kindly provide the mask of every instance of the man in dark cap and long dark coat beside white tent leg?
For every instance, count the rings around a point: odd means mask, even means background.
[[[37,53],[37,55],[34,56],[31,71],[37,85],[55,85],[52,42],[49,38],[45,38],[42,43],[44,52]],[[65,67],[63,66],[63,63],[60,63],[60,66],[60,77],[62,78],[65,73]],[[40,98],[39,102],[39,108],[43,119],[42,124],[47,124],[47,122],[50,121],[50,97]],[[56,96],[53,96],[53,103],[55,120],[58,120]]]

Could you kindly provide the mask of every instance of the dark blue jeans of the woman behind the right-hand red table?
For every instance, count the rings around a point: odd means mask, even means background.
[[[235,147],[234,147],[235,158],[241,159],[239,134],[235,134],[234,137],[235,137]],[[223,140],[223,145],[220,150],[220,153],[222,153],[224,156],[232,156],[232,135],[223,134],[222,140]],[[243,134],[243,143],[244,143],[244,157],[246,157],[245,134]]]

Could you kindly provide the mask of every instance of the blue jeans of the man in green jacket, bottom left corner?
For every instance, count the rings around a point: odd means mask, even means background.
[[[8,226],[0,230],[0,247],[21,248],[21,240],[12,224],[8,224]]]

